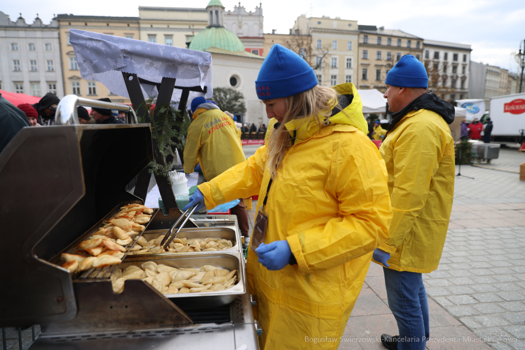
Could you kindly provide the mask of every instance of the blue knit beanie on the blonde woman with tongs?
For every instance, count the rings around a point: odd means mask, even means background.
[[[278,99],[308,91],[318,84],[312,67],[292,50],[274,44],[255,81],[260,100]]]

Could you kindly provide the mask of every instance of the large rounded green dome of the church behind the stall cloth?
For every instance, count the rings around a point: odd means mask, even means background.
[[[206,51],[216,47],[228,51],[244,51],[244,45],[232,31],[224,27],[206,28],[197,34],[190,44],[191,50]]]

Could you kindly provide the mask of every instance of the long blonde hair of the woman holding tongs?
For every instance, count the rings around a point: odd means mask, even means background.
[[[332,114],[332,108],[339,105],[337,97],[338,93],[334,89],[317,85],[308,91],[285,98],[286,113],[279,128],[271,132],[268,140],[266,168],[270,171],[271,178],[277,175],[282,158],[292,145],[290,133],[285,128],[285,124],[293,119],[302,119],[302,123],[293,129],[297,130],[304,123],[310,123],[313,118],[322,128],[322,124]]]

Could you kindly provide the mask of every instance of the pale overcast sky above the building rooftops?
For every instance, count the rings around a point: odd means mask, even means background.
[[[238,3],[221,0],[226,10]],[[205,7],[209,0],[192,2],[173,0],[17,0],[3,1],[0,11],[16,20],[19,13],[27,23],[36,14],[49,23],[53,14],[138,16],[141,6]],[[124,6],[123,4],[127,4]],[[255,9],[259,0],[244,0],[247,10]],[[30,9],[30,10],[29,10]],[[525,38],[525,1],[523,0],[262,0],[264,31],[286,34],[301,14],[308,16],[339,16],[358,20],[362,25],[401,29],[424,39],[470,44],[471,60],[517,71],[512,52],[517,52]]]

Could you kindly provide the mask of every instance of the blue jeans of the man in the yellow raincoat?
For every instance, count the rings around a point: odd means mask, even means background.
[[[430,335],[428,301],[421,273],[383,268],[388,306],[399,328],[398,350],[425,350]]]

